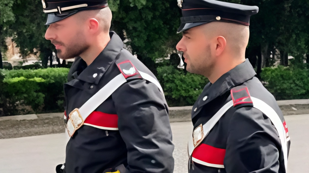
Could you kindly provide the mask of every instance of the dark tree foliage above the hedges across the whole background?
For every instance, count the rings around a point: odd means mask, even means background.
[[[303,64],[304,60],[309,63],[308,0],[222,1],[258,6],[260,9],[258,14],[251,17],[250,39],[246,50],[246,57],[254,67],[257,66],[258,74],[262,68],[273,66],[275,58],[280,59],[280,64],[284,66],[293,63],[293,69],[296,66],[308,68],[308,65]],[[156,63],[159,58],[165,61],[168,54],[175,55],[176,44],[181,38],[181,34],[176,34],[181,17],[176,0],[108,0],[108,4],[113,13],[111,30],[127,41],[125,44],[132,53],[137,54],[154,74],[158,74],[158,69],[159,73],[168,74],[170,71],[174,76],[205,81],[204,78],[177,69],[177,61],[173,65],[161,61]],[[6,47],[4,38],[13,37],[23,56],[33,53],[34,48],[40,50],[40,57],[46,67],[47,57],[51,57],[54,51],[54,46],[44,38],[46,19],[40,0],[0,0],[0,50],[4,51]],[[288,55],[294,59],[288,60]],[[158,74],[162,81],[174,78],[163,74]],[[167,90],[168,87],[177,88],[172,85],[166,87]],[[175,92],[173,95],[176,98]]]

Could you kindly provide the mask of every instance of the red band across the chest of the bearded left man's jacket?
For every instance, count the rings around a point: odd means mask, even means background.
[[[101,127],[118,128],[118,115],[93,111],[84,123]]]

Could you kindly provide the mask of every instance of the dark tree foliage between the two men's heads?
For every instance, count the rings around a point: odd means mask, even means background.
[[[177,1],[109,0],[108,4],[113,12],[112,30],[123,40],[125,31],[133,54],[156,74],[155,59],[176,50],[181,37],[176,34],[181,17]]]

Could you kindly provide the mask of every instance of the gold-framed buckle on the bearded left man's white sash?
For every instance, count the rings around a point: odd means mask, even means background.
[[[82,125],[84,124],[84,120],[82,115],[80,115],[80,112],[78,108],[75,108],[70,114],[69,114],[69,120],[66,124],[66,130],[68,131],[68,134],[70,137],[72,137]]]

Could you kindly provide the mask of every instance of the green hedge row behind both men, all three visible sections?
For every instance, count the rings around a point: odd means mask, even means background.
[[[174,66],[161,66],[157,71],[170,107],[193,105],[209,82]],[[63,84],[68,72],[68,68],[0,70],[0,116],[63,111]],[[307,69],[267,67],[261,78],[277,100],[309,99]]]

